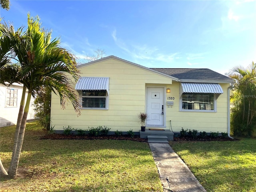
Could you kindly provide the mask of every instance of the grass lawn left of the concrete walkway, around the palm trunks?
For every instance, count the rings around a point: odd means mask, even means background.
[[[8,168],[15,126],[0,129],[0,158]],[[147,143],[124,140],[40,140],[28,123],[20,177],[1,180],[0,191],[159,191],[162,185]]]

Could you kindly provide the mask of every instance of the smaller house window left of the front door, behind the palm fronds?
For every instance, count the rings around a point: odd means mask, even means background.
[[[106,109],[106,90],[82,90],[82,108]]]

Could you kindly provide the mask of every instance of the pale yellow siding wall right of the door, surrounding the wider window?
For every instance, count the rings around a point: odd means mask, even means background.
[[[206,131],[206,132],[228,132],[228,94],[229,84],[220,84],[224,93],[217,99],[217,112],[185,112],[180,111],[179,105],[179,83],[173,82],[171,93],[166,96],[174,97],[172,108],[166,108],[166,128],[170,129],[170,120],[172,130],[179,132],[181,128]],[[171,100],[168,100],[171,101]]]

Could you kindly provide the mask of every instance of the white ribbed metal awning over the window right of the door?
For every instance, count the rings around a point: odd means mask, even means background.
[[[182,93],[215,93],[218,96],[223,93],[218,83],[181,83]]]

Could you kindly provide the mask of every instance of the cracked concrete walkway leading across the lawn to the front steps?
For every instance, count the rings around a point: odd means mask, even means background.
[[[149,143],[164,192],[206,192],[168,143]]]

